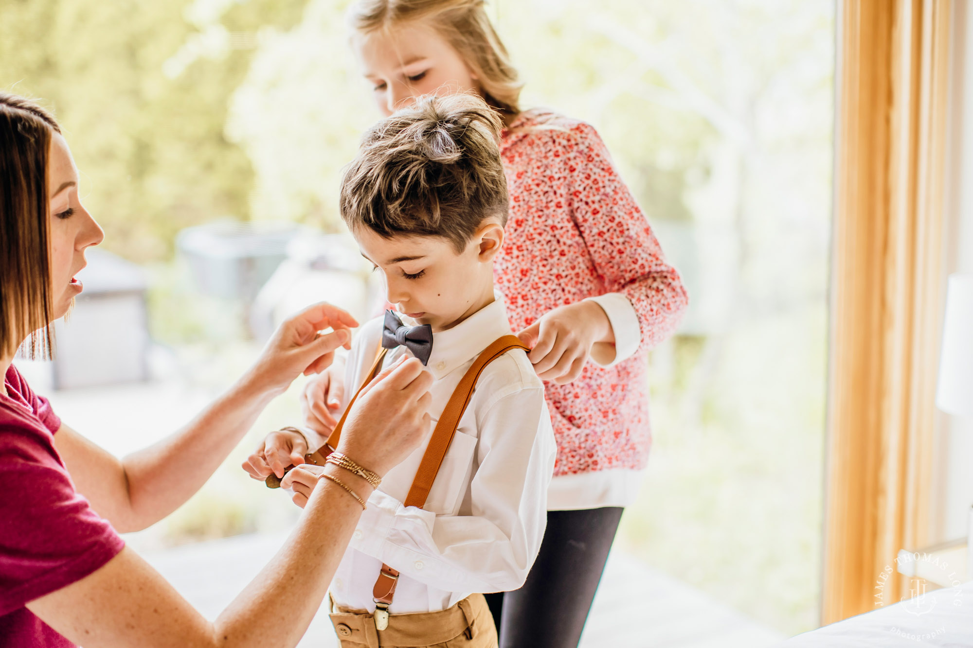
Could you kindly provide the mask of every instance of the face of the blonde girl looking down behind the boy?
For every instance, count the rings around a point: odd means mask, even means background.
[[[477,77],[434,29],[420,23],[355,34],[351,47],[373,86],[378,110],[388,117],[423,94],[475,91]]]

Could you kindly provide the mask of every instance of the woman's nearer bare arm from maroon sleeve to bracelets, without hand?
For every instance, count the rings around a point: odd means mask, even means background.
[[[338,477],[368,493],[364,480]],[[320,606],[361,512],[341,487],[321,480],[287,544],[214,623],[127,548],[27,608],[85,648],[293,646]]]

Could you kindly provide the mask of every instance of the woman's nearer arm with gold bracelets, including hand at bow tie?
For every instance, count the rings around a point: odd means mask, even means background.
[[[431,383],[417,360],[383,372],[349,415],[340,450],[384,475],[428,429]],[[362,497],[371,492],[365,480],[348,471],[332,465],[326,471]],[[27,607],[85,648],[294,646],[320,606],[361,513],[340,486],[320,480],[283,549],[214,623],[128,549]]]

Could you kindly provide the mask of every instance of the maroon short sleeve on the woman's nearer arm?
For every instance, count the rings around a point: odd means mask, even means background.
[[[49,439],[39,425],[0,422],[0,616],[81,580],[125,546],[75,491]]]

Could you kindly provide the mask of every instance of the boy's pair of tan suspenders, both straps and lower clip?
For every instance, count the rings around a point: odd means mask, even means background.
[[[409,494],[406,496],[406,506],[417,506],[420,509],[425,506],[426,498],[429,497],[429,490],[432,489],[432,484],[436,481],[436,475],[439,474],[439,467],[443,464],[447,450],[450,449],[450,443],[456,432],[456,427],[459,425],[459,419],[463,417],[463,413],[466,412],[466,407],[470,404],[470,397],[473,395],[473,388],[476,386],[477,380],[480,378],[486,365],[507,351],[515,348],[523,348],[524,351],[530,350],[517,336],[504,336],[496,340],[477,356],[477,359],[473,361],[473,365],[467,370],[463,378],[459,380],[459,384],[453,390],[450,401],[443,410],[443,414],[439,417],[439,422],[436,423],[436,429],[433,430],[432,437],[429,439],[429,445],[422,455],[422,461],[419,463],[418,470],[415,472],[413,486],[409,489]],[[351,406],[354,404],[355,399],[358,398],[361,390],[378,375],[381,361],[385,357],[385,351],[386,349],[384,348],[378,351],[375,364],[372,365],[369,375],[362,382],[362,386],[358,388],[358,391],[355,392],[354,398],[348,403],[348,407],[345,408],[341,420],[335,426],[335,431],[331,433],[328,442],[320,450],[305,456],[307,463],[324,465],[328,454],[338,448],[338,442],[342,437],[344,418],[348,415]],[[273,476],[271,475],[271,477]],[[395,586],[398,583],[398,579],[398,571],[392,569],[387,564],[383,563],[381,565],[378,580],[375,582],[375,587],[372,590],[376,604],[375,625],[378,630],[385,630],[388,627],[388,606],[392,602],[392,597],[395,596]]]

